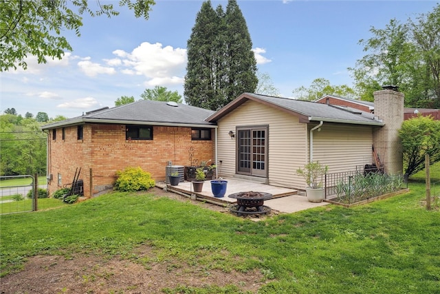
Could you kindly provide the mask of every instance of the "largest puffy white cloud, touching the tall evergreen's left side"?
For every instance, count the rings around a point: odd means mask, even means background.
[[[148,78],[146,85],[170,85],[183,83],[186,67],[186,49],[162,47],[161,43],[144,42],[131,53],[115,50],[122,58],[123,74],[137,74]]]

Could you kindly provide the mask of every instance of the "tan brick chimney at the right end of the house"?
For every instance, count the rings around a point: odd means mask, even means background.
[[[385,124],[373,131],[374,149],[387,174],[403,172],[403,156],[399,129],[404,122],[404,94],[396,86],[384,86],[374,95],[374,114]]]

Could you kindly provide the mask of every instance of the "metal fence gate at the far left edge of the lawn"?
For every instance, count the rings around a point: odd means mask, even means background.
[[[34,211],[35,195],[30,190],[38,178],[30,175],[0,177],[0,214]],[[43,184],[43,183],[40,183]],[[45,186],[40,186],[45,188]],[[29,197],[30,196],[30,197]]]

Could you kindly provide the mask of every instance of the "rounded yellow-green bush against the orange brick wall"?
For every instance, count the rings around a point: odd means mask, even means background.
[[[127,167],[124,171],[116,171],[116,176],[118,180],[114,189],[118,191],[145,191],[155,186],[151,174],[140,167]]]

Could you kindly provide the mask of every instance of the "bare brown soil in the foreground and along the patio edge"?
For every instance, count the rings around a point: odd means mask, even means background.
[[[184,196],[154,188],[157,196],[190,201],[206,209],[228,212],[225,207],[189,200]],[[259,271],[241,273],[201,269],[181,260],[155,262],[151,247],[135,249],[138,259],[149,260],[147,266],[120,257],[77,254],[37,255],[28,258],[24,269],[0,279],[0,293],[164,293],[164,288],[178,286],[236,285],[241,291],[256,293],[264,283]],[[152,262],[153,261],[153,262]],[[179,293],[179,292],[176,292]]]

